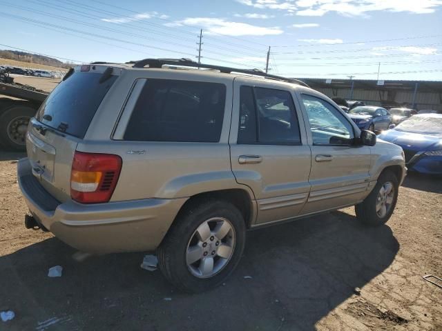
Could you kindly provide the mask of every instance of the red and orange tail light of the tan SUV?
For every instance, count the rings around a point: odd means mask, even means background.
[[[70,197],[81,203],[108,202],[122,170],[113,154],[75,152],[70,172]]]

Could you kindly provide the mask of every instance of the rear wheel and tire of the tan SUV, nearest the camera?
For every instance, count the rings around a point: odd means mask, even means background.
[[[238,265],[245,232],[242,214],[231,203],[194,203],[180,212],[158,248],[160,270],[184,292],[211,290]]]

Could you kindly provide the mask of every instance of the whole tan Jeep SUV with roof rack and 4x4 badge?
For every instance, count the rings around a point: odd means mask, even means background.
[[[385,223],[402,149],[304,83],[266,77],[185,59],[71,69],[18,163],[26,227],[83,252],[156,250],[169,281],[200,292],[236,268],[247,229],[349,205]]]

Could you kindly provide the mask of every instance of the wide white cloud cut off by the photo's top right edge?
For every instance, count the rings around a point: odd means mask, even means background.
[[[344,16],[366,16],[367,12],[432,13],[442,6],[441,0],[237,0],[261,9],[286,10],[287,14],[299,16],[323,16],[338,12]]]

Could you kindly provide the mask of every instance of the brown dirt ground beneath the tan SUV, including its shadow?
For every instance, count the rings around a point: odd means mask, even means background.
[[[442,276],[442,179],[410,174],[381,228],[347,208],[251,231],[226,283],[189,295],[142,270],[143,253],[77,262],[26,230],[23,154],[0,155],[0,310],[16,314],[0,330],[442,330],[442,289],[422,279]]]

